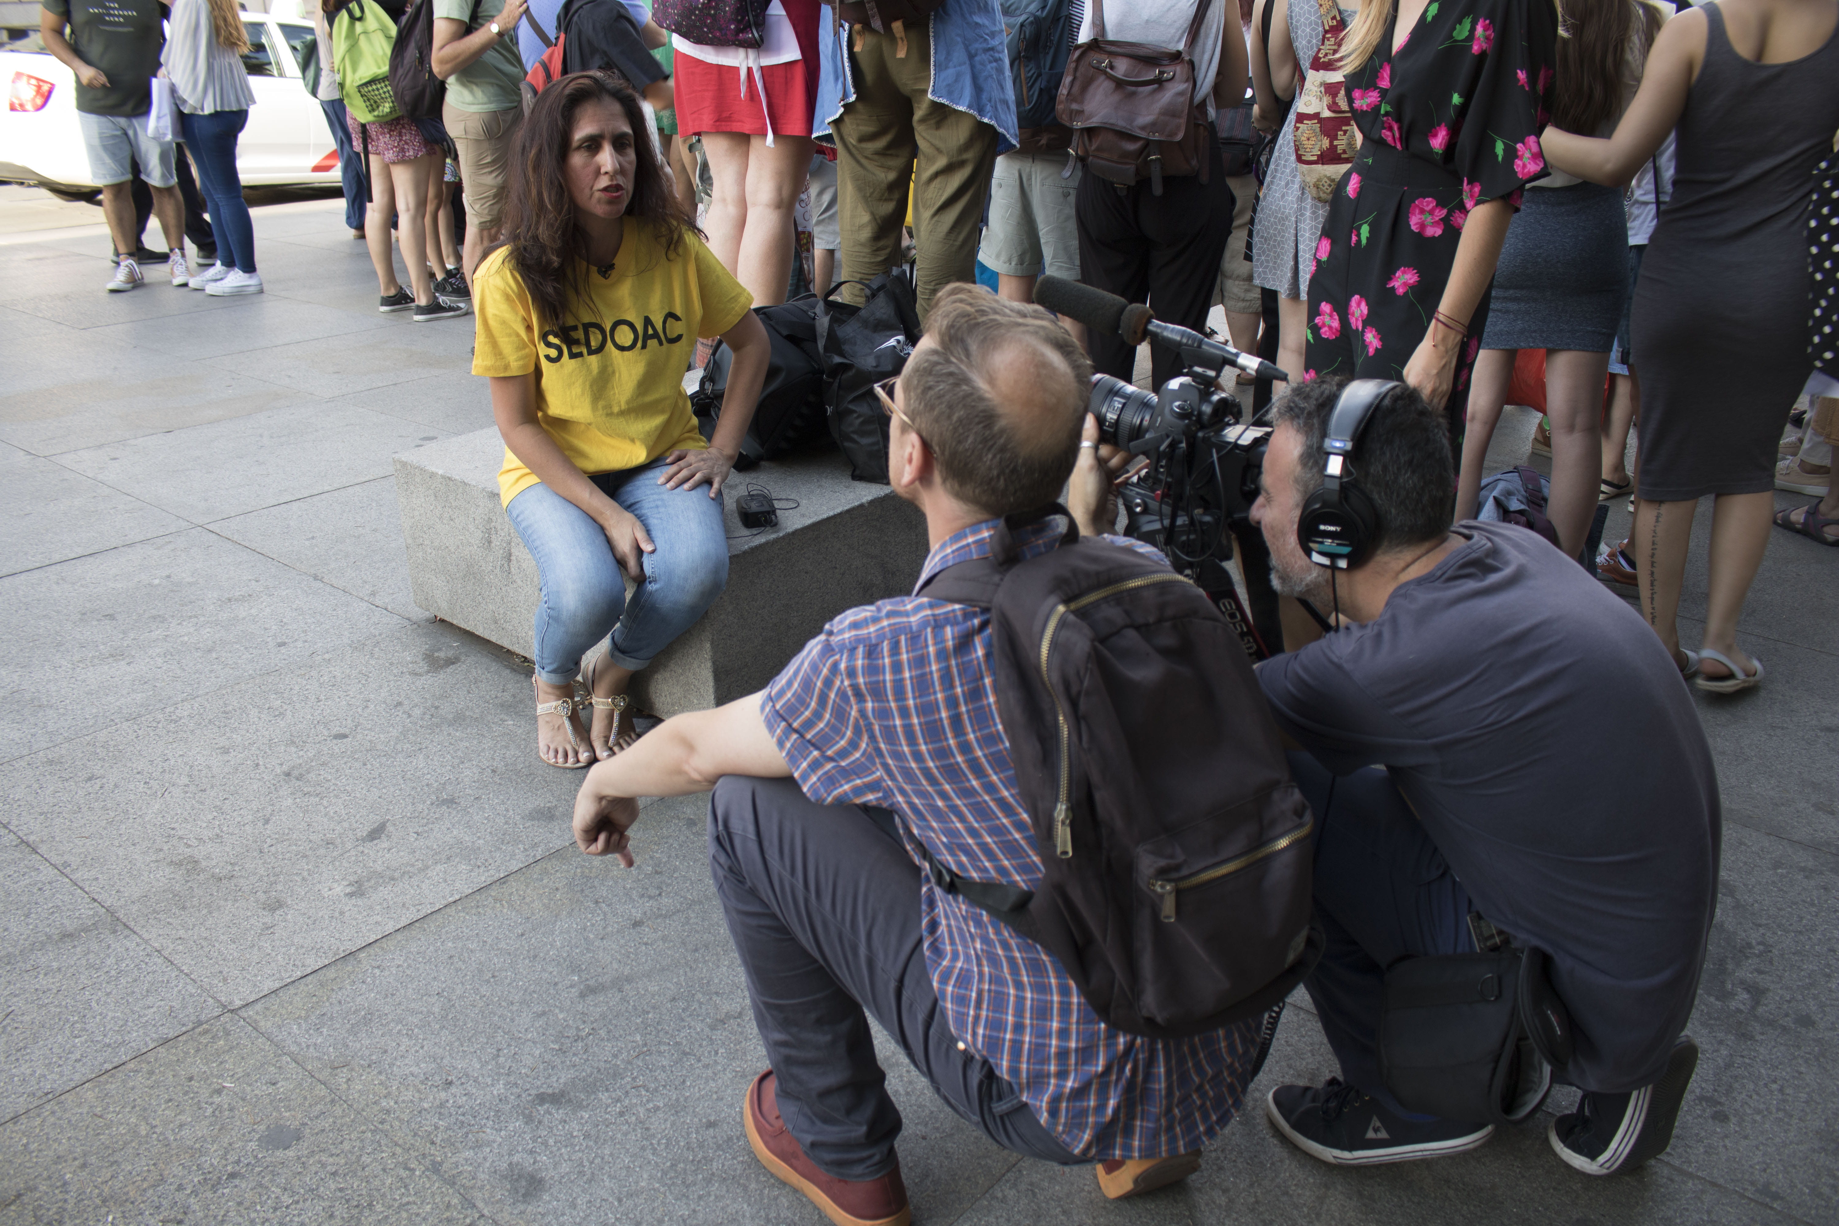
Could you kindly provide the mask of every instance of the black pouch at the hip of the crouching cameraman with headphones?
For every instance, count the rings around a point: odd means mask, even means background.
[[[1401,1107],[1519,1123],[1571,1062],[1571,1015],[1537,948],[1403,958],[1385,972],[1379,1077]]]

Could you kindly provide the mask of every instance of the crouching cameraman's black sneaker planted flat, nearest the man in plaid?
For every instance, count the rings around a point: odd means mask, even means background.
[[[1341,1077],[1317,1086],[1278,1086],[1265,1116],[1296,1149],[1337,1167],[1442,1158],[1477,1149],[1493,1136],[1491,1123],[1405,1119]]]

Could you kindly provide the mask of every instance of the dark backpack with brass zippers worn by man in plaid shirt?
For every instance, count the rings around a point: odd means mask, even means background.
[[[1048,513],[1065,515],[1061,507]],[[1219,608],[1137,550],[995,553],[920,596],[989,610],[997,715],[1035,833],[1035,890],[927,869],[1045,945],[1092,1011],[1182,1039],[1282,1004],[1315,967],[1313,818]]]

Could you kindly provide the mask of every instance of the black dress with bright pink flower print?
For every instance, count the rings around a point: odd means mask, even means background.
[[[1558,61],[1550,0],[1433,0],[1392,51],[1394,7],[1370,61],[1348,74],[1361,153],[1341,178],[1309,279],[1304,379],[1403,379],[1431,331],[1469,211],[1547,175],[1539,129]],[[1449,393],[1451,437],[1488,296]]]

